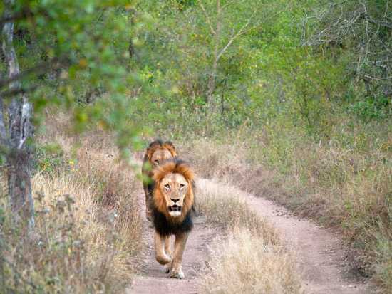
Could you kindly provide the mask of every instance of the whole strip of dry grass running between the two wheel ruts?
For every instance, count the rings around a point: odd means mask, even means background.
[[[229,184],[197,181],[198,211],[210,224],[226,229],[210,248],[200,277],[202,293],[301,293],[292,253],[241,194]]]

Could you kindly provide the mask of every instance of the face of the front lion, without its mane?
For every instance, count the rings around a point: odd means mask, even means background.
[[[181,216],[189,184],[182,174],[167,174],[160,182],[160,192],[165,198],[167,211],[172,217]]]

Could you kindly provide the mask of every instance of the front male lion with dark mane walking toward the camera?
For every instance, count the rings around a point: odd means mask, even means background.
[[[194,174],[180,159],[169,159],[153,171],[151,210],[155,228],[155,258],[171,278],[184,278],[181,262],[188,234],[193,228]],[[174,255],[170,235],[175,236]]]

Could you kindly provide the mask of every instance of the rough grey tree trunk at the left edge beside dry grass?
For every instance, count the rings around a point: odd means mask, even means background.
[[[11,16],[11,6],[14,0],[4,0],[4,16]],[[14,23],[4,23],[3,51],[9,68],[9,78],[19,75],[19,63],[16,57],[13,36]],[[9,84],[10,90],[20,90],[21,82],[16,78]],[[19,91],[18,91],[19,92]],[[1,98],[2,99],[2,98]],[[3,108],[1,101],[0,106]],[[1,109],[3,111],[3,109]],[[2,112],[1,112],[2,113]],[[6,159],[8,167],[9,204],[16,220],[27,221],[29,229],[34,225],[33,196],[31,194],[30,150],[26,140],[32,137],[33,126],[30,118],[32,107],[27,96],[16,94],[8,108],[9,132],[6,134],[4,116],[1,115],[1,143],[6,144]]]

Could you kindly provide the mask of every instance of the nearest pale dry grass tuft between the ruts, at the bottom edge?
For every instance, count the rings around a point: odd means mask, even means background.
[[[222,246],[225,244],[225,246]],[[203,293],[302,293],[292,256],[249,229],[232,229],[212,244]]]

